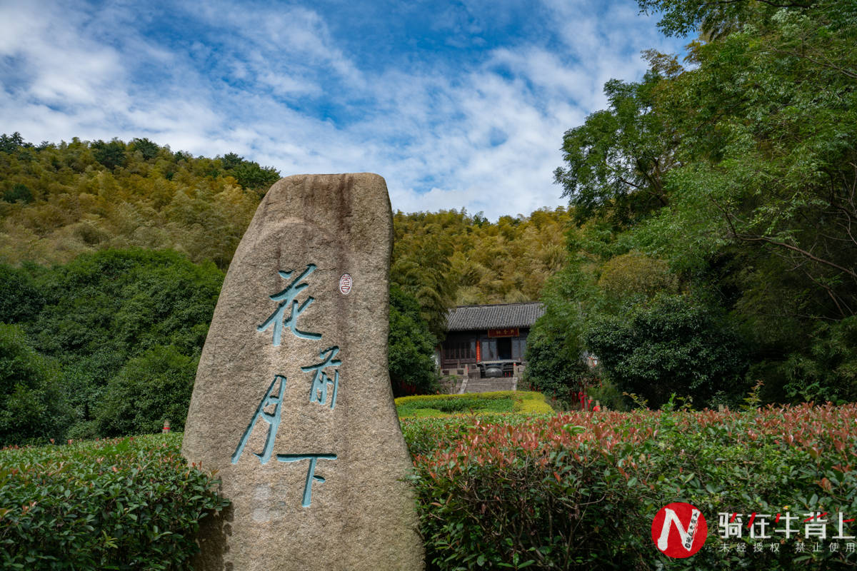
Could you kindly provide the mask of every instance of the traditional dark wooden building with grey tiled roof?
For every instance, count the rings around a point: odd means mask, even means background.
[[[441,374],[512,377],[524,364],[530,328],[543,313],[538,302],[452,309],[440,346]]]

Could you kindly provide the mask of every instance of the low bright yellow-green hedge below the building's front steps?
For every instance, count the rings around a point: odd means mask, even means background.
[[[396,399],[399,417],[449,416],[455,413],[553,413],[542,393],[498,390],[464,395],[402,396]]]

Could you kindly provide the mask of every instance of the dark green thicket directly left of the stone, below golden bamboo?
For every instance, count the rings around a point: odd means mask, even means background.
[[[74,411],[71,426],[63,428],[75,436],[95,436],[93,421],[98,420],[106,430],[99,436],[148,432],[158,428],[149,425],[165,416],[181,425],[190,393],[179,385],[194,382],[195,367],[189,363],[205,342],[224,277],[212,263],[197,265],[170,251],[103,250],[51,271],[0,266],[2,273],[39,292],[33,309],[19,319],[34,348],[63,368],[63,391]],[[6,293],[0,286],[0,294]],[[0,309],[9,306],[0,301]],[[163,365],[157,364],[159,358]],[[183,379],[175,378],[177,372]],[[165,401],[155,394],[155,386],[141,385],[143,378],[154,380],[157,390],[169,385],[169,396],[180,400]],[[100,403],[107,393],[109,406]],[[143,398],[128,403],[136,420],[96,419],[97,409],[127,411],[117,403],[121,395]],[[153,410],[157,407],[161,409]],[[147,427],[141,424],[145,422]]]

